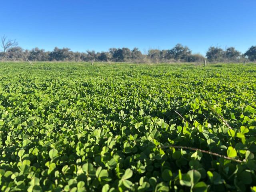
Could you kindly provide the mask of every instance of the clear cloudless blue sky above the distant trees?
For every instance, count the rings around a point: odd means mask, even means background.
[[[107,51],[256,45],[256,0],[6,0],[0,36],[25,49]]]

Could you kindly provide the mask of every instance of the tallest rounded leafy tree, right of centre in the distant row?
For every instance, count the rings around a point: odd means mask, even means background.
[[[166,58],[188,61],[188,57],[191,55],[191,50],[187,46],[176,44],[171,50],[167,50]]]

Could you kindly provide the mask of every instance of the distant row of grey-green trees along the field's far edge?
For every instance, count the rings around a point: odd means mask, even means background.
[[[55,47],[52,51],[33,48],[24,50],[18,46],[16,40],[1,38],[0,60],[12,61],[98,61],[98,62],[243,62],[256,60],[256,46],[251,46],[244,54],[234,47],[223,50],[218,46],[211,46],[206,57],[201,54],[192,54],[187,46],[176,44],[169,50],[150,49],[142,54],[138,48],[110,48],[108,52],[73,52],[69,48]]]

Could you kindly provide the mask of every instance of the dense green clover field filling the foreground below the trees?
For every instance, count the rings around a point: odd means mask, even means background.
[[[0,191],[256,192],[255,64],[0,63]]]

